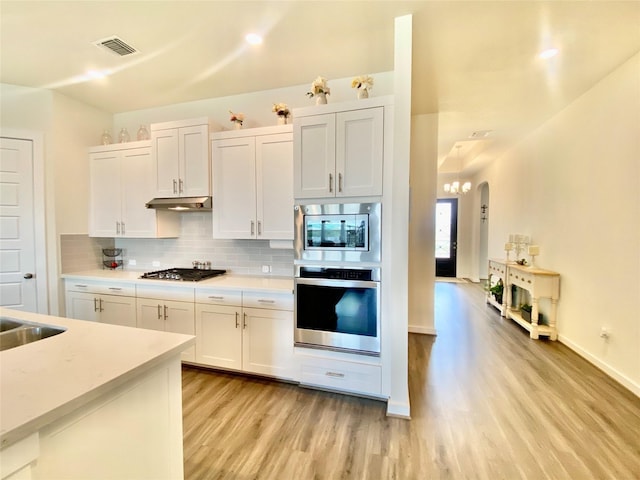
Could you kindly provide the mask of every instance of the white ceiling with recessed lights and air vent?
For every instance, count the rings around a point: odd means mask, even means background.
[[[0,0],[0,81],[119,113],[390,71],[407,13],[413,114],[440,114],[442,172],[499,156],[640,50],[638,1]],[[248,47],[249,32],[264,43]],[[113,35],[141,53],[93,45]],[[113,73],[80,81],[88,69]]]

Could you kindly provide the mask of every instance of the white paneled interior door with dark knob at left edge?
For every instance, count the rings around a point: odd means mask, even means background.
[[[33,142],[0,139],[0,305],[37,312]]]

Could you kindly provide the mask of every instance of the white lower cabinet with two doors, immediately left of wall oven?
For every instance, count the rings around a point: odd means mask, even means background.
[[[196,363],[295,378],[292,294],[245,292],[240,302],[203,290],[196,302]]]

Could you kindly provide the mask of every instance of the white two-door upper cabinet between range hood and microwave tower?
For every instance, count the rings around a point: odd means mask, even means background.
[[[212,136],[214,238],[293,239],[292,142],[290,126]]]

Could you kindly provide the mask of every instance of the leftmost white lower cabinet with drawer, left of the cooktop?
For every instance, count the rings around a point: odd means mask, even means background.
[[[67,281],[66,305],[68,318],[125,327],[136,326],[133,286]]]

